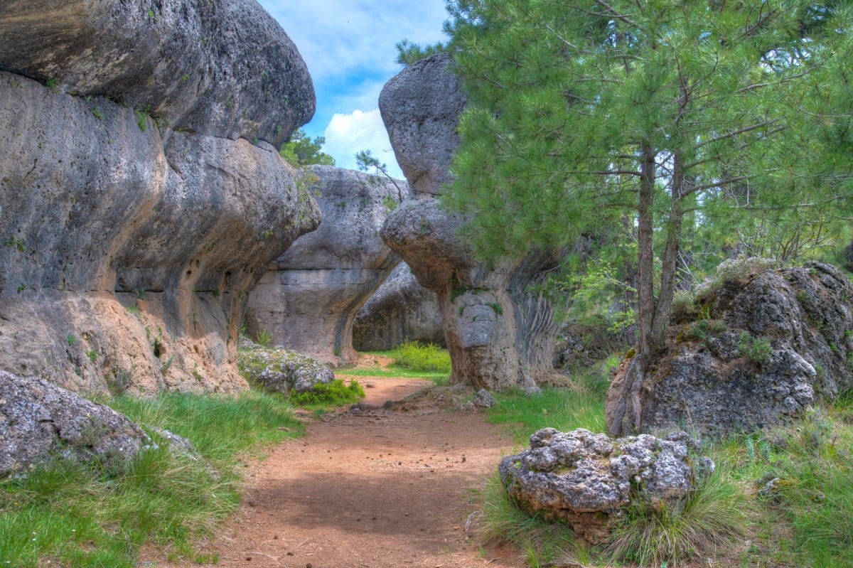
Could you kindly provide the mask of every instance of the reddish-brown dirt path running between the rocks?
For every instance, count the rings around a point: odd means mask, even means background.
[[[375,406],[429,384],[358,380],[372,385],[365,402]],[[522,566],[484,556],[465,531],[471,490],[512,446],[476,412],[403,405],[311,419],[305,438],[252,466],[243,505],[210,552],[228,567]]]

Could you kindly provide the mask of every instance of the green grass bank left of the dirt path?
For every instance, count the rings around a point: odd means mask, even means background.
[[[143,451],[121,471],[57,462],[0,481],[0,566],[127,567],[146,543],[172,559],[212,561],[194,548],[240,501],[241,456],[302,432],[281,397],[165,395],[107,401],[142,424],[193,441],[194,460]],[[212,467],[216,468],[216,472]]]

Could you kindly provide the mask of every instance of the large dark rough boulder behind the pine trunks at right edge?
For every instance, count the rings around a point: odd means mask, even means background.
[[[619,368],[607,393],[609,431],[751,432],[853,388],[853,286],[833,266],[726,281],[705,305],[711,320],[670,329],[669,353],[632,399],[639,424],[618,420],[631,399],[625,362]]]

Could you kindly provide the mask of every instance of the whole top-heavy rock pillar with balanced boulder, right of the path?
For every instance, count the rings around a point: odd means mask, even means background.
[[[535,251],[487,265],[458,235],[465,219],[431,199],[450,181],[456,125],[466,101],[449,65],[446,54],[418,61],[380,95],[397,162],[418,198],[388,217],[382,239],[438,297],[453,360],[451,383],[535,389],[551,371],[558,326],[553,306],[531,292],[531,284],[558,264],[559,252]]]

